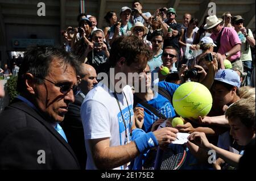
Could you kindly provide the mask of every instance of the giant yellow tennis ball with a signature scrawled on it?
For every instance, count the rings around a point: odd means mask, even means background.
[[[212,108],[212,95],[210,91],[198,82],[183,83],[174,92],[172,104],[181,117],[206,116]]]

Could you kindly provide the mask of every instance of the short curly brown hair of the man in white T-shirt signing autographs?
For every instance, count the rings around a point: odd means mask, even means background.
[[[152,58],[152,50],[138,36],[120,36],[113,41],[110,49],[109,64],[114,67],[121,57],[125,57],[126,64],[131,65],[142,60]]]

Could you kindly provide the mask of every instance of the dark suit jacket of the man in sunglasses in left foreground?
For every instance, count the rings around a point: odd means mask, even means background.
[[[15,99],[0,115],[1,169],[80,169],[76,155],[53,126]]]

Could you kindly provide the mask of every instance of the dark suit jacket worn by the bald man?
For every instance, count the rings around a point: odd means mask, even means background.
[[[65,114],[64,121],[61,122],[69,145],[74,150],[77,159],[79,160],[81,169],[86,166],[86,149],[84,142],[84,128],[82,127],[82,120],[80,115],[80,107],[84,98],[81,94],[75,96],[75,102],[69,104],[68,112]]]

